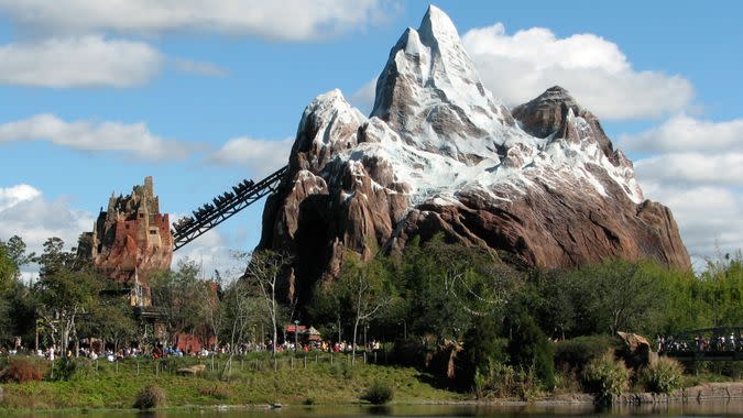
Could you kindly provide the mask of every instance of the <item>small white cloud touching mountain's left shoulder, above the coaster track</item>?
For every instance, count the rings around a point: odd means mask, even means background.
[[[234,138],[214,152],[207,161],[217,165],[244,166],[253,175],[265,175],[286,165],[293,143],[292,138],[281,141]]]

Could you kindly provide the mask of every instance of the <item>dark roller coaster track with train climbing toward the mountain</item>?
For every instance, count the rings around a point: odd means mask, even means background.
[[[275,191],[287,169],[288,167],[284,166],[258,183],[242,180],[232,187],[232,191],[228,190],[211,199],[214,204],[206,204],[195,210],[193,217],[183,218],[174,223],[171,231],[173,251],[177,251],[267,194]]]

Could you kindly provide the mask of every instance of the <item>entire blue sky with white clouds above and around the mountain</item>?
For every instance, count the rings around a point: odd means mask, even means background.
[[[439,1],[509,105],[554,84],[602,120],[695,256],[743,248],[739,2]],[[371,81],[425,1],[0,0],[0,239],[68,242],[155,178],[186,213],[286,161],[304,107]],[[183,250],[250,250],[262,205]]]

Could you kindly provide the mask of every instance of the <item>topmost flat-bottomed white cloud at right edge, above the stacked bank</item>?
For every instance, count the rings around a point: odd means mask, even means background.
[[[743,119],[712,122],[677,114],[657,128],[621,135],[619,142],[636,152],[743,152]]]

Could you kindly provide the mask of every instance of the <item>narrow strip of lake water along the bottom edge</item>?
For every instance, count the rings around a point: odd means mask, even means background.
[[[484,405],[413,405],[413,406],[341,406],[341,407],[284,407],[281,409],[178,409],[157,413],[88,411],[78,414],[29,414],[21,417],[46,418],[315,418],[315,417],[742,417],[743,399],[714,400],[691,404],[623,406],[599,410],[589,405],[580,406],[484,406]]]

